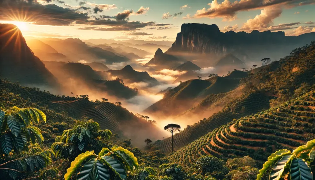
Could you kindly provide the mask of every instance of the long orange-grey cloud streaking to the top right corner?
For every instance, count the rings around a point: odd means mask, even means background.
[[[295,6],[301,6],[306,4],[314,4],[313,0],[239,0],[231,2],[224,0],[218,3],[217,0],[213,0],[208,5],[208,9],[203,8],[197,10],[194,15],[195,18],[223,18],[226,20],[235,20],[236,13],[239,11],[248,11],[255,9],[265,9],[274,5],[286,6],[292,8]]]

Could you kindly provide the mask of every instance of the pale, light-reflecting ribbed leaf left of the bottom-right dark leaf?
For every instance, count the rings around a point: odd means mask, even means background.
[[[288,166],[293,155],[282,156],[280,160],[273,166],[269,179],[279,180],[284,172],[284,169]]]

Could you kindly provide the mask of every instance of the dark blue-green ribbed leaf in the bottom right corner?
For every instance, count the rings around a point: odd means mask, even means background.
[[[313,180],[311,168],[301,158],[294,158],[290,165],[291,180]]]

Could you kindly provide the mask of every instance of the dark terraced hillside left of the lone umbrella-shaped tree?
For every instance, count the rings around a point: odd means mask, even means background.
[[[99,123],[101,129],[109,129],[112,133],[123,134],[133,140],[133,144],[143,145],[145,138],[156,140],[164,134],[155,125],[145,119],[136,117],[127,109],[110,102],[90,102],[87,99],[53,102],[51,108],[66,111],[75,119],[85,117]],[[137,131],[137,133],[134,133]],[[139,136],[144,134],[144,136]],[[143,139],[144,138],[144,139]]]

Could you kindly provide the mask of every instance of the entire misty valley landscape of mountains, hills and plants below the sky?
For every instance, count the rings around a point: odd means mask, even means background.
[[[315,32],[179,31],[37,38],[1,23],[0,179],[269,179],[288,154],[312,177]]]

